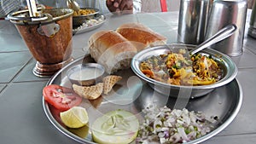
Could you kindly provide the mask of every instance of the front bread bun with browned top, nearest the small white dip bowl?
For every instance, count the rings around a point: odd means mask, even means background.
[[[89,38],[89,49],[91,57],[108,73],[129,68],[131,58],[137,54],[137,49],[125,37],[111,30],[94,33]]]

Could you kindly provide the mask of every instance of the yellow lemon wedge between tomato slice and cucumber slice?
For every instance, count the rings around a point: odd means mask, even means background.
[[[60,113],[61,121],[69,128],[81,128],[88,123],[88,114],[84,107],[72,107]]]

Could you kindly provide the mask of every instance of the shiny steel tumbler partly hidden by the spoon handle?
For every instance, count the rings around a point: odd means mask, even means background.
[[[215,0],[207,22],[205,39],[214,35],[224,26],[234,24],[236,32],[221,42],[213,44],[210,48],[216,49],[226,55],[241,55],[244,29],[247,17],[247,0]]]

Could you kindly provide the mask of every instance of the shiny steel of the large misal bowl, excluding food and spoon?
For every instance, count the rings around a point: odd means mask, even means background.
[[[212,59],[216,60],[219,66],[223,69],[223,78],[221,78],[218,82],[214,84],[208,85],[198,85],[198,86],[184,86],[184,85],[173,85],[173,84],[165,84],[160,81],[154,80],[152,78],[148,78],[146,75],[141,72],[139,66],[143,60],[148,59],[149,57],[155,55],[166,54],[167,52],[175,50],[175,49],[193,49],[195,45],[182,44],[182,43],[172,43],[169,45],[156,46],[149,49],[144,49],[143,51],[137,53],[131,60],[131,69],[135,74],[142,78],[145,82],[147,82],[151,88],[155,91],[169,95],[172,97],[180,97],[179,95],[187,98],[195,98],[203,95],[207,95],[213,89],[223,86],[224,84],[230,83],[234,78],[236,78],[236,74],[238,69],[236,67],[236,63],[227,55],[224,55],[214,49],[203,49],[201,50],[202,55],[211,55]],[[175,50],[177,51],[177,50]]]

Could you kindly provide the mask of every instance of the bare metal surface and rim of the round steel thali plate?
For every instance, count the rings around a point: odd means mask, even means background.
[[[55,75],[49,79],[49,84],[59,84],[71,88],[71,83],[67,78],[67,70],[71,66],[75,66],[81,63],[92,62],[90,56],[84,56],[78,60],[74,60],[69,65],[63,67],[61,71],[56,72]],[[81,129],[72,130],[61,124],[60,118],[56,115],[54,108],[44,101],[44,112],[49,118],[51,124],[55,126],[61,133],[72,138],[74,141],[80,143],[94,143],[90,135],[90,125],[102,115],[116,109],[124,109],[134,113],[139,120],[143,118],[142,109],[150,104],[157,104],[159,107],[173,108],[177,99],[161,95],[160,93],[151,89],[148,84],[138,78],[131,69],[119,71],[116,75],[122,76],[122,80],[119,81],[113,87],[112,92],[109,95],[101,96],[95,101],[84,101],[80,105],[85,107],[89,115],[89,127],[83,127]],[[196,139],[195,141],[189,141],[188,143],[200,143],[207,141],[214,135],[217,135],[220,131],[224,130],[234,118],[241,108],[242,102],[242,89],[241,85],[235,78],[229,84],[212,90],[207,95],[201,96],[195,99],[189,99],[187,109],[189,111],[203,112],[207,117],[218,116],[219,121],[214,130],[204,135],[203,137]]]

